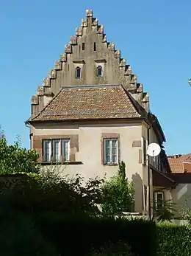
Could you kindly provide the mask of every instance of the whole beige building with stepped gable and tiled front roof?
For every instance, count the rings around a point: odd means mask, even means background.
[[[120,50],[107,41],[92,10],[32,96],[26,123],[41,165],[59,162],[63,175],[109,178],[125,162],[126,176],[134,181],[136,212],[148,212],[154,198],[170,198],[176,186],[165,175],[170,173],[165,135],[150,111],[148,93]],[[151,142],[162,148],[155,161],[146,156]]]

